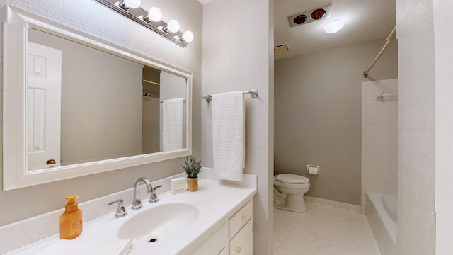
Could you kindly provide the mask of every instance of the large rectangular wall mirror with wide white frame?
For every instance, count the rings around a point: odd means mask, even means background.
[[[191,81],[189,72],[8,6],[4,190],[191,154]]]

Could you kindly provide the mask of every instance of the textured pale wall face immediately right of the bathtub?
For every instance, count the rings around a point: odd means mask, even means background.
[[[435,49],[432,11],[432,0],[396,0],[399,58],[396,253],[401,255],[435,254]],[[447,72],[451,72],[450,69]],[[448,213],[451,217],[451,212]]]

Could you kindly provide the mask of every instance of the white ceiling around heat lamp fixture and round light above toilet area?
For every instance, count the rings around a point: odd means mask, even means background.
[[[287,16],[328,4],[332,4],[331,17],[289,27]],[[335,19],[343,20],[343,30],[325,33],[326,23]],[[395,0],[274,0],[274,45],[289,45],[289,52],[275,55],[275,60],[378,39],[384,46],[394,26]]]

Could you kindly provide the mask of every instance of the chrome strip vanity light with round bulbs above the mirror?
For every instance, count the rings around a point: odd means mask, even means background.
[[[168,23],[162,21],[162,11],[157,7],[149,8],[144,11],[139,8],[141,0],[95,0],[99,4],[106,6],[122,16],[130,18],[132,21],[145,26],[156,33],[164,36],[168,40],[176,43],[180,47],[186,47],[189,42],[193,42],[194,35],[191,31],[180,31],[178,21],[171,19]]]

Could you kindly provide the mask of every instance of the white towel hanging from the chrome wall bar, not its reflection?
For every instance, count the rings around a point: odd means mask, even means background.
[[[220,179],[242,180],[245,137],[243,92],[212,95],[212,154],[214,169]]]

